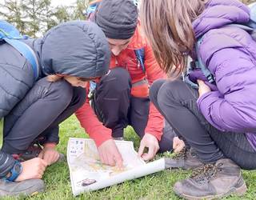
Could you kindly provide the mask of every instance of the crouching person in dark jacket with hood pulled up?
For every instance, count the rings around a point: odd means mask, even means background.
[[[110,62],[105,35],[92,22],[62,23],[23,42],[38,59],[36,81],[30,62],[0,43],[0,197],[44,190],[40,178],[60,157],[58,124],[82,106],[85,82],[106,74]]]

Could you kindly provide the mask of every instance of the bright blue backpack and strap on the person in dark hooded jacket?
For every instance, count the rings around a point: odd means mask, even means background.
[[[18,50],[30,62],[33,68],[34,80],[36,81],[39,74],[38,59],[34,54],[34,50],[21,41],[27,38],[27,36],[22,36],[15,26],[4,20],[0,20],[0,42],[4,41],[10,44],[10,46],[13,46],[15,50]]]

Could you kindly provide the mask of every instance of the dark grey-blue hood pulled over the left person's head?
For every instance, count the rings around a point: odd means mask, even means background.
[[[98,77],[109,70],[110,48],[105,34],[93,22],[65,22],[38,40],[44,74]]]

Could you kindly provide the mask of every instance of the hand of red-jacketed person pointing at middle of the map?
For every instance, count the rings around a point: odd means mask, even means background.
[[[103,164],[122,168],[122,155],[113,139],[109,139],[98,146],[98,154]]]

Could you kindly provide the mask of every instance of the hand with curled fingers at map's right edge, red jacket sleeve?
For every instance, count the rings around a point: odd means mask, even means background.
[[[144,153],[144,149],[148,148],[148,152]],[[148,161],[154,158],[159,150],[158,139],[152,134],[145,134],[142,138],[141,144],[138,149],[138,156],[142,157],[143,160]]]

